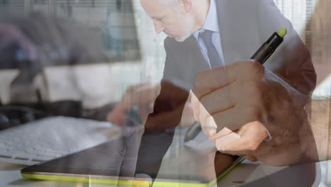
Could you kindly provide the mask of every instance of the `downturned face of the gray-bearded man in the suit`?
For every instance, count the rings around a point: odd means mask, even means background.
[[[158,0],[141,0],[141,6],[152,18],[156,33],[165,33],[182,42],[194,32],[194,18],[176,4],[160,4]]]

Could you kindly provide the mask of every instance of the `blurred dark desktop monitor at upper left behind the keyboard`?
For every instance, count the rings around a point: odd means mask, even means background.
[[[32,50],[42,66],[140,60],[132,0],[0,0],[0,10],[1,69]]]

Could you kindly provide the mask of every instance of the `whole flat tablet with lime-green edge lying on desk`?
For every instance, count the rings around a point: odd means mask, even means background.
[[[155,138],[161,136],[168,135],[155,135]],[[154,161],[153,155],[158,152],[158,147],[155,148],[149,156]],[[21,174],[28,179],[104,183],[114,186],[151,186],[153,181],[153,186],[160,187],[202,187],[211,186],[243,161],[240,157],[215,154],[214,149],[205,146],[194,149],[182,145],[175,147],[175,153],[161,158],[161,169],[156,179],[151,179],[144,175],[144,170],[148,167],[141,166],[136,169],[138,149],[137,135],[132,133],[74,154],[28,166],[21,170]]]

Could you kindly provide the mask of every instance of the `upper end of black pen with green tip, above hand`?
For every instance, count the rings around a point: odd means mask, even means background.
[[[265,61],[274,53],[281,42],[284,40],[284,36],[286,35],[286,28],[281,28],[278,32],[274,32],[270,38],[263,43],[263,45],[255,52],[254,55],[250,58],[251,60],[255,60],[264,64]]]

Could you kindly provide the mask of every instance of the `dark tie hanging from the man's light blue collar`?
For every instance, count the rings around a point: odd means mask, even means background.
[[[221,57],[219,57],[219,53],[213,45],[211,40],[211,35],[213,31],[204,30],[204,32],[199,33],[199,38],[204,41],[204,45],[207,47],[208,58],[211,68],[220,67],[221,66]]]

